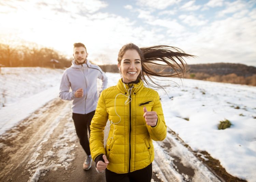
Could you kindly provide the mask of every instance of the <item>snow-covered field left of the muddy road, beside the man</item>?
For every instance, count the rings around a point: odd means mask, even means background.
[[[1,68],[0,134],[58,96],[63,70]]]

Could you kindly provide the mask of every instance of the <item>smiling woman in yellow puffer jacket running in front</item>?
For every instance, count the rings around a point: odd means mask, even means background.
[[[97,171],[105,170],[107,182],[151,181],[152,140],[164,140],[167,127],[158,93],[144,87],[144,83],[153,88],[165,87],[156,84],[151,76],[180,76],[185,70],[182,56],[193,57],[163,45],[139,48],[129,43],[120,49],[118,69],[122,78],[116,86],[101,92],[90,125],[91,156]],[[160,61],[172,71],[157,72]],[[104,147],[103,130],[108,120],[110,131]]]

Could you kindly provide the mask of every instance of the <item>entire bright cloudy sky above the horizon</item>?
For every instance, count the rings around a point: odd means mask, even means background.
[[[82,42],[88,59],[116,64],[126,43],[170,45],[193,63],[256,66],[255,0],[1,0],[0,41],[36,43],[72,57]]]

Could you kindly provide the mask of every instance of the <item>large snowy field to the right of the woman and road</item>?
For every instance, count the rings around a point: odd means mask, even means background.
[[[179,79],[159,90],[169,128],[194,151],[205,150],[232,176],[256,181],[256,87]],[[225,119],[231,127],[218,130]],[[188,121],[187,121],[188,120]]]

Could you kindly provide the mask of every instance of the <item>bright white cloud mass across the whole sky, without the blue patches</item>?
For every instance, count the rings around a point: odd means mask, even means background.
[[[186,8],[195,6],[195,1],[189,2],[190,5],[187,4]],[[132,12],[138,13],[139,19],[132,20],[129,15],[126,18],[102,13],[100,10],[106,6],[104,3],[95,5],[93,10],[90,10],[94,13],[90,13],[86,9],[90,6],[83,3],[80,6],[63,0],[44,0],[39,4],[32,0],[17,0],[10,3],[17,8],[10,7],[5,14],[0,13],[0,38],[22,38],[61,50],[70,56],[72,44],[83,42],[87,46],[89,59],[94,60],[99,54],[104,54],[111,63],[116,63],[119,49],[129,42],[138,44],[139,47],[156,44],[176,46],[199,56],[193,61],[252,62],[256,57],[256,9],[251,10],[252,3],[236,3],[224,3],[227,9],[230,6],[239,6],[236,11],[226,11],[234,12],[232,16],[224,11],[223,15],[229,15],[228,18],[223,16],[214,21],[212,17],[211,24],[207,24],[209,22],[205,15],[198,15],[197,12],[189,15],[191,12],[182,11],[176,20],[172,19],[173,16],[165,17],[172,15],[173,11],[177,15],[179,10],[175,9],[155,10],[153,14],[152,11],[145,11],[145,6],[138,9],[134,5]],[[126,8],[129,9],[130,6],[126,5]],[[0,4],[0,10],[2,9],[4,8]],[[163,18],[159,19],[156,14],[162,15]],[[180,24],[180,21],[186,25]],[[187,25],[196,27],[192,29]]]

